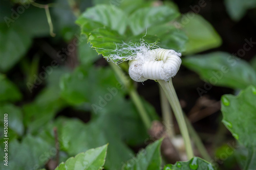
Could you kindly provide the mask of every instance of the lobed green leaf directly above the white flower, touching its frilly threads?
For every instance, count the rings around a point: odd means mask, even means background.
[[[126,1],[126,4],[131,6],[131,9],[127,11],[122,8],[126,12],[136,9],[131,2]],[[148,49],[152,49],[155,43],[160,40],[161,43],[158,44],[160,47],[184,51],[187,37],[184,32],[177,30],[174,25],[169,23],[169,21],[179,16],[177,9],[167,5],[148,7],[147,4],[145,6],[147,7],[140,8],[129,16],[128,26],[132,33],[127,30],[124,34],[127,26],[123,24],[123,21],[126,20],[126,15],[130,14],[130,12],[122,12],[115,6],[97,5],[84,12],[76,22],[81,26],[82,34],[87,35],[92,47],[99,54],[108,57],[109,60],[114,62],[118,62],[120,59],[110,55],[118,55],[121,56],[121,60],[125,60],[136,55],[133,52],[133,47],[140,46],[141,42],[148,44]],[[112,8],[115,9],[115,12],[111,10]],[[103,15],[104,17],[100,17]],[[119,18],[122,15],[125,15],[125,17]],[[119,21],[120,19],[122,21]],[[117,29],[119,25],[117,25],[116,21],[125,28],[123,31]],[[113,27],[113,25],[117,26]]]

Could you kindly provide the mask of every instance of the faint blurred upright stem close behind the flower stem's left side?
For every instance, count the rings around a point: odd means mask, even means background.
[[[175,136],[172,109],[170,108],[168,99],[166,98],[164,91],[161,87],[160,87],[160,101],[161,101],[161,109],[162,109],[162,116],[163,116],[163,124],[169,139],[172,141],[172,138]]]

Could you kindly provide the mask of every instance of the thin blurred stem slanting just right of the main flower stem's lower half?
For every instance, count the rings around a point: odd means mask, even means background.
[[[186,115],[184,115],[185,117],[185,120],[186,120],[186,124],[187,124],[187,127],[188,127],[188,131],[189,131],[189,134],[190,136],[193,138],[193,141],[195,142],[195,145],[198,149],[198,151],[200,152],[200,154],[202,155],[202,157],[207,160],[207,161],[210,161],[211,160],[211,157],[210,155],[208,154],[206,148],[204,147],[204,144],[201,140],[201,138],[198,136],[197,132],[195,131],[194,127],[191,125],[191,123],[189,122],[188,118]]]

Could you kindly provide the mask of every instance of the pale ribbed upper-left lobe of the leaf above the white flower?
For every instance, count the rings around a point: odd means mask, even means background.
[[[81,14],[76,23],[82,26],[87,20],[102,23],[104,26],[110,27],[119,34],[123,34],[126,30],[127,16],[115,6],[97,5],[88,8],[86,12]],[[91,29],[91,31],[92,30],[93,29]]]

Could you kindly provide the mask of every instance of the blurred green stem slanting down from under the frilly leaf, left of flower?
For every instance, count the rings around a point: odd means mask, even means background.
[[[131,79],[128,78],[124,74],[124,72],[116,66],[116,64],[110,62],[110,66],[116,72],[116,75],[120,79],[121,83],[125,86],[126,89],[128,89],[129,95],[131,96],[131,99],[132,99],[133,103],[135,104],[146,129],[150,129],[151,128],[151,119],[147,115],[146,109],[143,106],[143,103],[140,99],[138,92],[135,90],[134,87],[132,87],[130,85]]]

